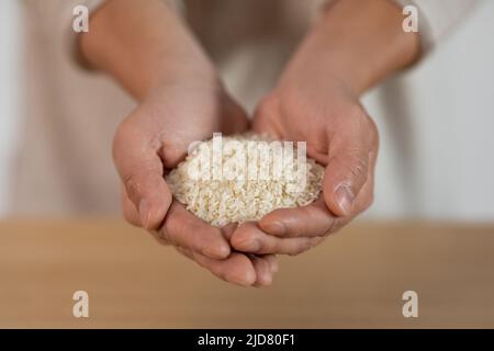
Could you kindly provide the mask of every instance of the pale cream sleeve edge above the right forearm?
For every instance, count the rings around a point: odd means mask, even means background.
[[[460,22],[479,0],[395,0],[400,5],[415,5],[423,52],[427,53]]]

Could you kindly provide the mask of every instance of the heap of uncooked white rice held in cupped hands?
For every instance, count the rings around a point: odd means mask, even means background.
[[[305,144],[215,134],[194,147],[166,181],[190,212],[221,227],[312,203],[319,195],[323,172],[305,157]]]

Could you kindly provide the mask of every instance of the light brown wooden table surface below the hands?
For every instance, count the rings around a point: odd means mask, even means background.
[[[494,328],[494,225],[356,223],[246,288],[121,220],[11,219],[0,279],[7,328]],[[89,318],[72,316],[80,290]]]

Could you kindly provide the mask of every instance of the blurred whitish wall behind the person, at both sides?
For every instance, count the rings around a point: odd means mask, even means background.
[[[11,211],[24,121],[21,3],[0,1],[1,215]],[[484,0],[419,65],[364,97],[381,135],[366,216],[494,220],[492,33],[494,1]],[[403,90],[406,99],[389,99]]]

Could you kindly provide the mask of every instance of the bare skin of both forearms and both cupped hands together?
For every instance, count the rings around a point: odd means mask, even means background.
[[[138,101],[113,145],[124,217],[227,282],[269,285],[274,254],[305,251],[370,205],[378,134],[359,97],[418,56],[418,38],[401,30],[402,20],[385,0],[324,9],[254,118],[258,132],[307,141],[308,156],[327,166],[323,195],[259,223],[215,228],[172,200],[164,174],[190,143],[247,129],[246,114],[170,7],[106,1],[80,50]]]

